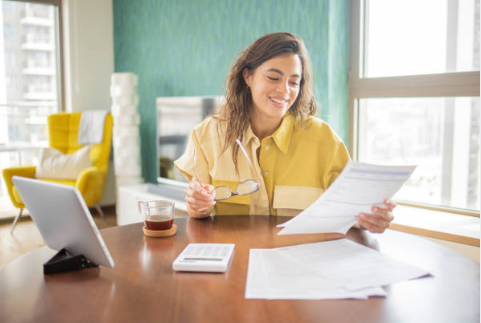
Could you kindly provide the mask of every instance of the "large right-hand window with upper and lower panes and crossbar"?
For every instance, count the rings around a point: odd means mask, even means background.
[[[351,155],[417,165],[398,201],[479,215],[479,0],[356,0],[351,14]]]

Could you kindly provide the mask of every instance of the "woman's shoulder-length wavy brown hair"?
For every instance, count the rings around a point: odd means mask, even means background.
[[[257,67],[271,58],[285,55],[298,55],[302,63],[302,78],[296,101],[289,108],[300,126],[303,126],[308,116],[316,114],[317,102],[312,90],[312,68],[309,53],[304,41],[289,32],[270,33],[257,39],[253,44],[238,53],[227,74],[224,85],[226,88],[226,102],[222,106],[218,118],[227,122],[224,149],[232,146],[232,159],[237,170],[237,155],[239,147],[235,139],[243,140],[244,133],[249,127],[252,113],[251,90],[245,83],[243,71],[254,73]]]

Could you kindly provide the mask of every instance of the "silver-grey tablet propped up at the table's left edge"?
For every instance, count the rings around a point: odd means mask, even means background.
[[[105,267],[114,261],[76,187],[14,176],[20,197],[47,246],[84,255]]]

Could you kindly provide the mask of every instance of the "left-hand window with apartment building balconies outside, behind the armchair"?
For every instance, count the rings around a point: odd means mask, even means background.
[[[0,1],[0,169],[34,165],[61,110],[61,0]],[[10,207],[0,176],[0,216]]]

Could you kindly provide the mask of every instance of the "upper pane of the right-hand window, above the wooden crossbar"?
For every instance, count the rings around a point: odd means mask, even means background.
[[[479,70],[476,3],[479,1],[366,1],[364,76]]]

